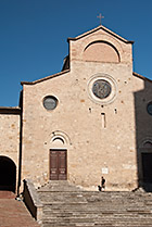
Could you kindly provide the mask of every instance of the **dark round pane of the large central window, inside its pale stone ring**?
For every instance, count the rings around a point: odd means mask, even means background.
[[[98,79],[93,83],[92,92],[100,99],[105,99],[110,96],[112,87],[107,80]]]

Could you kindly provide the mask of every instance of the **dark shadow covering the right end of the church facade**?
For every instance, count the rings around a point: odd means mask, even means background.
[[[134,93],[136,118],[136,147],[138,187],[152,192],[152,83]]]

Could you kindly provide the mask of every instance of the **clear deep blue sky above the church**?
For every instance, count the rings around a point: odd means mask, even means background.
[[[134,40],[134,71],[152,79],[152,0],[0,0],[0,105],[18,105],[21,81],[58,73],[67,38],[102,24]]]

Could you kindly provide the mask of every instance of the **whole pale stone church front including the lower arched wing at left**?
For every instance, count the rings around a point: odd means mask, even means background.
[[[132,41],[100,25],[68,45],[60,73],[22,81],[20,106],[0,108],[0,189],[151,185],[152,81],[132,72]]]

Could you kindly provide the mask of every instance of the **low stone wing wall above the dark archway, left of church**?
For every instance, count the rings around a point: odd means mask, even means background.
[[[16,165],[16,189],[20,159],[20,109],[0,108],[0,156],[11,159]]]

